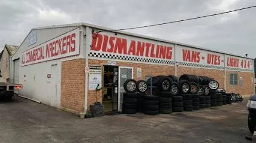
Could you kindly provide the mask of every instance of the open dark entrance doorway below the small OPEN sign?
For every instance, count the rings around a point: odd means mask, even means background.
[[[103,71],[104,110],[118,111],[118,66],[103,66]]]

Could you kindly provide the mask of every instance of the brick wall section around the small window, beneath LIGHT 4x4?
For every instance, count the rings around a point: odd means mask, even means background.
[[[237,74],[237,86],[230,86],[230,74]],[[254,73],[226,71],[227,92],[239,93],[243,96],[254,94]],[[240,86],[240,77],[243,78],[243,85]]]

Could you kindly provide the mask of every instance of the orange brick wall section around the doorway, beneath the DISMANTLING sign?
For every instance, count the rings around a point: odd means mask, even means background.
[[[107,65],[107,60],[89,60],[89,65]],[[128,63],[128,62],[116,62],[116,66],[129,66],[134,68],[134,79],[144,80],[146,75],[174,75],[174,66],[165,65],[149,65],[144,63]],[[141,77],[137,77],[137,68],[141,68]],[[103,81],[102,81],[103,83]],[[95,102],[95,91],[89,90],[88,92],[88,106]],[[97,92],[97,101],[102,102],[102,92]]]

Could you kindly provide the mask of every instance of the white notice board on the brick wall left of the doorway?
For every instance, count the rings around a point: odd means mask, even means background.
[[[101,88],[101,66],[90,66],[89,67],[89,90],[95,90],[99,85],[98,89]]]

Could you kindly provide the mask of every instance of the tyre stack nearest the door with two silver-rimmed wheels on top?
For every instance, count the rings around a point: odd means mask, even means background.
[[[147,90],[146,81],[135,81],[129,79],[125,81],[124,89],[126,93],[123,95],[122,112],[124,114],[135,114],[136,112],[141,112],[141,102],[143,101],[143,96]]]

